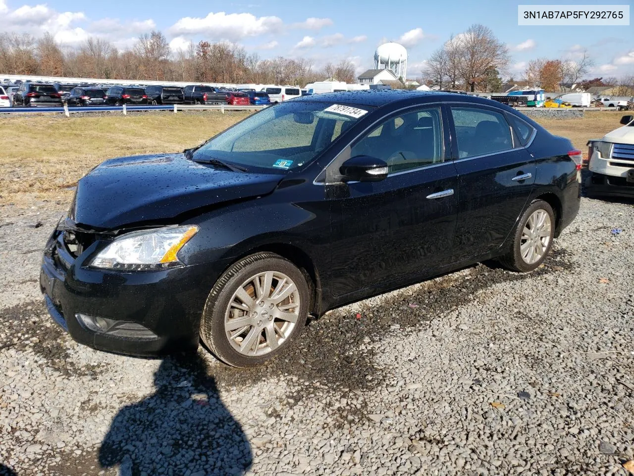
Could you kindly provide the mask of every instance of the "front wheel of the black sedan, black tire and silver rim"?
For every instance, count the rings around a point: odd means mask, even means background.
[[[256,282],[262,288],[256,290]],[[230,366],[259,366],[290,347],[306,324],[308,306],[309,287],[302,271],[274,253],[256,253],[231,266],[214,285],[202,313],[200,338],[212,354]],[[282,315],[285,319],[280,319]],[[226,330],[225,326],[236,325],[240,327]]]

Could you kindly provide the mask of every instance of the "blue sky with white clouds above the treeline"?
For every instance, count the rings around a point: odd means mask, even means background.
[[[614,2],[594,0],[593,4]],[[590,76],[634,74],[634,26],[518,26],[517,3],[508,1],[408,2],[395,3],[393,9],[385,0],[157,0],[133,5],[123,0],[0,0],[0,31],[36,36],[49,31],[67,48],[76,47],[89,36],[99,36],[125,49],[139,34],[158,29],[174,50],[200,39],[224,40],[261,58],[310,58],[316,68],[347,58],[358,72],[372,67],[378,44],[399,41],[410,56],[408,76],[415,77],[430,53],[451,34],[482,23],[510,49],[512,62],[507,76],[515,79],[533,58],[575,60],[583,50],[595,61]]]

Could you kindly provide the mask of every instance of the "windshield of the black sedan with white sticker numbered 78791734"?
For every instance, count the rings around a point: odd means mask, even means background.
[[[193,153],[195,161],[284,171],[312,162],[370,111],[332,102],[284,102],[248,117]],[[257,170],[256,170],[257,171]]]

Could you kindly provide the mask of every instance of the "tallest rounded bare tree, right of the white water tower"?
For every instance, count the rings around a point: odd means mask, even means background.
[[[489,69],[505,70],[508,65],[508,48],[489,27],[472,25],[456,43],[461,53],[460,74],[471,91],[486,80]]]

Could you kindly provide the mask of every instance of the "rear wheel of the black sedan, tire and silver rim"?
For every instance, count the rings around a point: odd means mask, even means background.
[[[539,228],[541,216],[544,216],[543,214],[545,214],[545,218],[543,219],[543,225]],[[534,225],[529,223],[531,217],[533,217]],[[532,232],[531,228],[533,227],[538,227],[537,229],[541,230],[541,233],[535,237],[536,240],[539,240],[539,244],[535,242],[536,245],[531,246],[531,244],[528,244],[526,247]],[[550,229],[548,230],[547,227]],[[517,221],[517,227],[515,227],[512,235],[510,250],[507,255],[498,258],[498,261],[500,261],[501,265],[513,271],[521,273],[533,271],[540,267],[541,263],[546,259],[546,256],[548,256],[550,248],[552,248],[554,235],[555,213],[553,213],[552,207],[548,202],[543,200],[534,200]],[[545,239],[547,239],[547,242],[545,242]],[[524,249],[522,249],[522,246],[524,246]],[[533,249],[532,255],[531,248]],[[522,251],[524,251],[524,253],[522,253]],[[526,255],[526,253],[528,253],[528,256],[525,258],[524,255]]]

